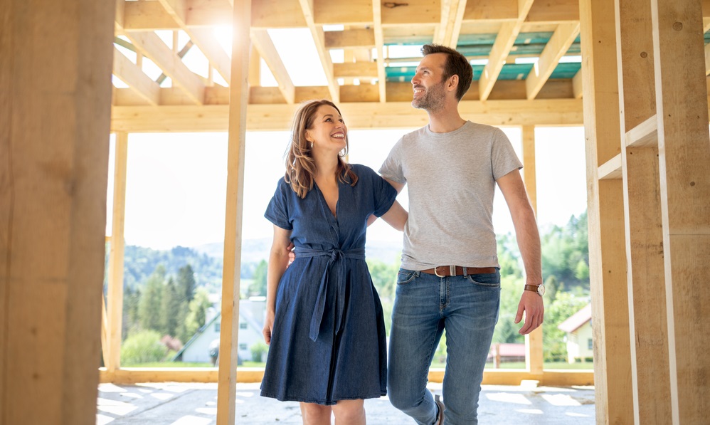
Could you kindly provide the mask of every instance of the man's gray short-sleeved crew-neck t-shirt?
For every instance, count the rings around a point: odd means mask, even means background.
[[[521,168],[497,127],[467,121],[452,132],[434,133],[427,125],[404,135],[379,171],[408,185],[402,267],[499,267],[495,182]]]

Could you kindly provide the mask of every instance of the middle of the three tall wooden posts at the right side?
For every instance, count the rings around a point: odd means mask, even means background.
[[[627,131],[655,120],[651,8],[648,0],[616,0],[615,13],[634,421],[669,424],[658,148],[626,143]]]

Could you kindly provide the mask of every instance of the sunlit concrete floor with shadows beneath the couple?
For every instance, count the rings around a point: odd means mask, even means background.
[[[295,402],[259,395],[260,384],[237,384],[237,424],[300,424]],[[441,384],[430,384],[440,394]],[[101,384],[97,425],[211,425],[216,423],[217,384]],[[412,425],[387,397],[366,400],[368,424]],[[594,425],[593,387],[521,387],[484,385],[479,425]]]

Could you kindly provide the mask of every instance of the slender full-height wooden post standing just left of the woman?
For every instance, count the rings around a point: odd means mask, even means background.
[[[235,0],[232,22],[232,80],[229,102],[227,202],[222,273],[217,424],[235,422],[239,332],[239,271],[242,246],[244,147],[249,77],[251,0]]]

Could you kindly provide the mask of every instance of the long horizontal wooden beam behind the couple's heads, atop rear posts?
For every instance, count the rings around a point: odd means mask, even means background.
[[[321,89],[322,90],[322,89]],[[327,93],[319,93],[327,94]],[[322,96],[300,95],[304,98]],[[415,110],[409,102],[340,103],[348,117],[348,127],[416,128],[426,124],[426,114]],[[557,100],[489,100],[482,104],[462,100],[459,110],[466,119],[488,125],[581,125],[582,103],[576,99]],[[247,128],[250,131],[288,130],[292,105],[250,105]],[[112,131],[126,132],[212,132],[226,131],[226,105],[184,106],[114,106]]]

